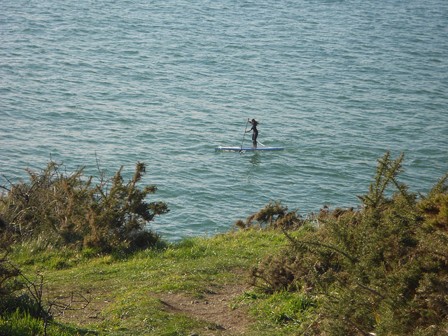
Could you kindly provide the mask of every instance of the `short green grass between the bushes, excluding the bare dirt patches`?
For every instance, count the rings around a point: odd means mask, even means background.
[[[30,279],[37,273],[43,274],[50,297],[71,292],[92,295],[91,307],[99,310],[98,318],[82,327],[76,321],[64,319],[66,330],[62,332],[59,328],[49,335],[77,335],[77,332],[101,336],[223,335],[219,330],[213,331],[214,324],[210,321],[172,314],[153,294],[202,297],[207,290],[246,283],[248,270],[285,244],[281,232],[248,230],[184,239],[163,249],[140,251],[131,256],[97,255],[92,250],[60,251],[51,246],[43,248],[35,241],[17,246],[11,257]],[[253,295],[258,295],[255,289]],[[260,330],[266,335],[283,335],[288,325],[297,323],[294,319],[299,318],[300,309],[292,307],[297,302],[288,297],[287,307],[286,303],[279,304],[282,300],[261,295],[255,304],[254,300],[249,302],[241,297],[236,304],[250,305],[255,318],[254,325],[244,335],[262,335]],[[277,317],[265,312],[269,304],[276,306]],[[295,317],[286,321],[284,316]]]

